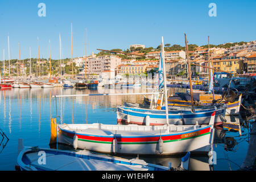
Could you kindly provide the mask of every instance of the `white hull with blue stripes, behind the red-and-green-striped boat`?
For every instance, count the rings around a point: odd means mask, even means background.
[[[208,125],[210,116],[214,109],[191,113],[191,111],[179,110],[169,111],[169,124],[174,125]],[[127,117],[129,115],[129,119]],[[118,124],[136,124],[146,125],[146,117],[150,117],[150,125],[166,125],[166,111],[165,110],[150,110],[138,109],[136,107],[118,107],[117,108],[117,123]],[[214,125],[222,125],[225,121],[225,108],[216,110]]]

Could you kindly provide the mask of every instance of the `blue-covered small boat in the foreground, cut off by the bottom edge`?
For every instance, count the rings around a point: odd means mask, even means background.
[[[19,143],[19,146],[21,144]],[[45,159],[42,159],[42,156]],[[189,152],[181,167],[188,167]],[[65,151],[39,147],[23,147],[15,168],[22,171],[167,171],[169,167],[146,163],[141,159],[123,159],[92,154],[89,151]]]

